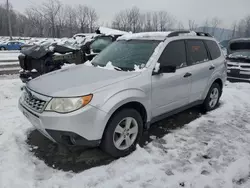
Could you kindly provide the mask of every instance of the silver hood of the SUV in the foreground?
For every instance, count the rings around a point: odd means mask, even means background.
[[[139,74],[76,65],[37,77],[29,81],[27,87],[51,97],[83,96]]]

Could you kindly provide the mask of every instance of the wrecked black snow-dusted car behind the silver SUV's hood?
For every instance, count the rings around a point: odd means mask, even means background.
[[[84,37],[51,39],[21,50],[19,55],[20,79],[26,83],[40,75],[59,70],[67,64],[82,64],[92,60],[104,48],[123,33],[103,34],[100,29],[95,35]]]

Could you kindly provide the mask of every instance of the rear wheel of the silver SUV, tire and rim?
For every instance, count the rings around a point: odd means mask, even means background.
[[[214,110],[218,106],[221,93],[222,93],[222,88],[220,87],[220,85],[218,83],[213,83],[203,103],[203,110],[205,112]],[[212,96],[214,96],[214,98]]]

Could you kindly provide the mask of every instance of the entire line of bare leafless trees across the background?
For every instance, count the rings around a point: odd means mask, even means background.
[[[94,32],[98,25],[98,13],[93,7],[86,5],[70,6],[60,0],[47,0],[42,4],[31,6],[24,13],[10,10],[11,27],[14,36],[29,37],[71,37],[75,33]],[[7,25],[7,8],[0,4],[0,35],[9,34]],[[215,34],[222,26],[222,20],[217,17],[207,19],[203,24],[196,20],[187,20],[188,27],[178,21],[167,11],[142,12],[138,7],[122,10],[115,14],[109,26],[114,29],[132,32],[167,31],[167,30],[197,30]],[[231,27],[230,37],[250,37],[250,16]],[[220,31],[223,35],[224,29]],[[218,33],[217,33],[218,34]]]

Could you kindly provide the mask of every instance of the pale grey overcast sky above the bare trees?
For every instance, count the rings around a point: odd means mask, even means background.
[[[0,0],[4,2],[5,0]],[[14,9],[24,11],[43,0],[9,0]],[[142,11],[166,10],[186,26],[188,19],[199,24],[211,17],[223,20],[223,26],[230,28],[234,21],[250,15],[250,0],[61,0],[65,4],[86,4],[96,9],[99,22],[110,22],[116,12],[139,7]]]

